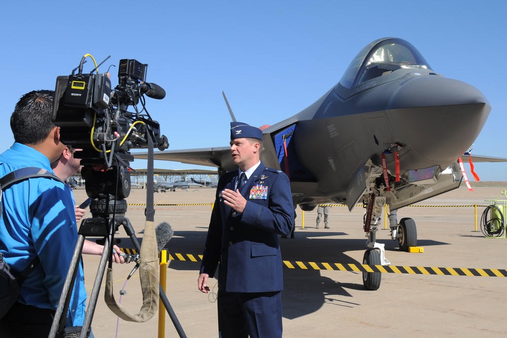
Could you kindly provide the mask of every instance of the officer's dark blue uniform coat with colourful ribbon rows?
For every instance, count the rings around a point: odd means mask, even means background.
[[[278,235],[294,226],[294,206],[287,175],[261,162],[243,186],[243,213],[226,206],[222,191],[235,190],[238,170],[222,175],[216,189],[200,273],[213,277],[219,266],[219,289],[268,292],[283,289]],[[220,262],[220,263],[219,263]]]

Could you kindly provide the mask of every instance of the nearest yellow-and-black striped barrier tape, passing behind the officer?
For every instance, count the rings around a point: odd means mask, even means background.
[[[123,252],[135,254],[136,250],[121,249]],[[202,255],[169,253],[170,260],[199,262]],[[472,269],[472,268],[434,268],[434,267],[403,267],[392,265],[340,264],[283,260],[288,269],[301,270],[335,270],[353,272],[383,272],[390,274],[441,275],[441,276],[475,276],[475,277],[507,277],[505,269]]]

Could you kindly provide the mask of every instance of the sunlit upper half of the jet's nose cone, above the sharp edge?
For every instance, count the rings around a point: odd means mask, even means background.
[[[393,93],[388,109],[487,104],[481,91],[467,83],[441,76],[413,77]]]

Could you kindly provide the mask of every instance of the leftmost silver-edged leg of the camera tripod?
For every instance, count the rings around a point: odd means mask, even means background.
[[[78,235],[78,241],[76,243],[76,247],[70,261],[65,283],[63,284],[60,300],[58,301],[58,307],[56,308],[55,318],[53,319],[51,331],[49,332],[50,338],[56,337],[57,332],[58,334],[63,333],[63,329],[65,327],[65,319],[67,317],[67,311],[70,304],[70,296],[74,288],[74,282],[76,280],[76,274],[78,272],[79,262],[81,260],[81,251],[83,250],[84,242],[85,237],[83,235]]]

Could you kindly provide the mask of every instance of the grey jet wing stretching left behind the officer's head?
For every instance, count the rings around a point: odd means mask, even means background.
[[[133,153],[132,155],[136,159],[148,159],[148,153]],[[154,152],[154,159],[218,167],[219,170],[224,170],[223,172],[237,169],[237,166],[232,163],[229,146]]]

